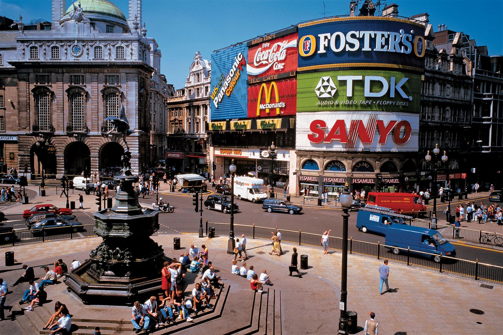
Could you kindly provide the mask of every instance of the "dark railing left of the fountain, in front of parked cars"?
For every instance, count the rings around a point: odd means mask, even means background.
[[[81,239],[95,236],[94,225],[44,228],[40,230],[24,229],[0,234],[0,248],[28,243]]]

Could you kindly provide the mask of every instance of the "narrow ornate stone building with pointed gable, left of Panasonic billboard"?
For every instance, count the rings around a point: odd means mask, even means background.
[[[208,171],[210,80],[211,63],[197,51],[185,87],[167,98],[166,166],[176,173]]]

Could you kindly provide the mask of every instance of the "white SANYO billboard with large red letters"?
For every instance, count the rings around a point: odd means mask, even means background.
[[[418,150],[418,115],[345,110],[299,113],[296,119],[297,150]]]

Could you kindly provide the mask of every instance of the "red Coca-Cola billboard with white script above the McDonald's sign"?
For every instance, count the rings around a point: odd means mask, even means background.
[[[295,76],[298,53],[296,28],[258,37],[249,41],[247,46],[248,83]],[[258,79],[263,77],[266,78]]]

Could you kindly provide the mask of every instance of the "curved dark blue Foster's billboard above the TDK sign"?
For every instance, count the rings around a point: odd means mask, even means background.
[[[299,24],[299,71],[376,63],[424,69],[424,35],[424,26],[396,18],[332,18]]]

